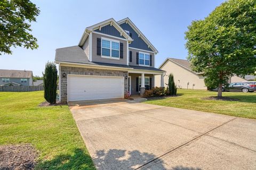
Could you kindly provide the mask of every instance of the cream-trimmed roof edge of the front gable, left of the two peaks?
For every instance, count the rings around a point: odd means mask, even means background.
[[[102,21],[100,23],[87,27],[83,33],[81,40],[79,41],[78,46],[82,46],[84,44],[84,41],[86,40],[90,32],[97,29],[101,29],[102,27],[108,24],[113,25],[113,27],[115,27],[120,32],[120,34],[127,39],[128,42],[133,41],[133,39],[125,32],[125,30],[122,27],[120,27],[120,25],[113,18],[110,18],[106,21]]]

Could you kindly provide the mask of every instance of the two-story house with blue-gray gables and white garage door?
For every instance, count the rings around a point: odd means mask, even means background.
[[[56,49],[61,102],[142,95],[155,86],[157,49],[129,18],[87,27],[78,46]],[[163,79],[162,79],[163,80]],[[162,81],[163,86],[163,81]]]

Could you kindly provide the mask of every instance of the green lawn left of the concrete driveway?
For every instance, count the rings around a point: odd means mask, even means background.
[[[31,143],[36,169],[95,169],[68,106],[42,101],[43,91],[0,92],[0,145]]]

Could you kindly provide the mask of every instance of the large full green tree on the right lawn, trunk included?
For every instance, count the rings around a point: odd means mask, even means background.
[[[188,60],[206,77],[206,85],[222,86],[234,74],[256,70],[256,0],[229,0],[185,33]]]

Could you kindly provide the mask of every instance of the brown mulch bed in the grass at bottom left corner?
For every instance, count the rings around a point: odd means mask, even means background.
[[[34,169],[38,153],[30,144],[0,146],[0,169]]]

